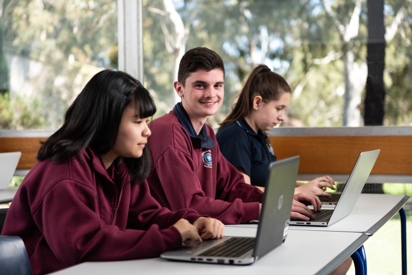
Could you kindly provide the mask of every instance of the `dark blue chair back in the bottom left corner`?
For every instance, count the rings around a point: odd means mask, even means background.
[[[23,240],[18,236],[0,236],[2,275],[33,275]]]

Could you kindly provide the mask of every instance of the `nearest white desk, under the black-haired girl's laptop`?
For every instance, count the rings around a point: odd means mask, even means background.
[[[226,227],[227,236],[256,235],[256,228]],[[316,240],[328,239],[328,251]],[[249,266],[168,261],[161,258],[81,263],[54,275],[182,275],[182,274],[329,274],[358,249],[368,236],[361,233],[289,230],[284,244]],[[298,259],[298,260],[297,260]],[[316,259],[316,261],[315,261]]]

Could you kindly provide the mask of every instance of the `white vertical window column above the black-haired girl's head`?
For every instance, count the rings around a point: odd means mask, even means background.
[[[143,82],[142,0],[117,0],[119,71]]]

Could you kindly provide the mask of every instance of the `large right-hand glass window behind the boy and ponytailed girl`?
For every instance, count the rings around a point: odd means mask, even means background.
[[[179,101],[172,83],[181,56],[205,46],[226,70],[224,104],[208,120],[213,127],[260,63],[293,89],[283,126],[412,125],[408,1],[369,2],[143,1],[145,85],[157,115]]]

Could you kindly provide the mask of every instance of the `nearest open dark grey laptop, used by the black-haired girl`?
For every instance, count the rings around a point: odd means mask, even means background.
[[[300,157],[296,156],[269,165],[256,237],[225,236],[166,251],[160,256],[171,260],[236,265],[250,264],[265,256],[281,245],[288,234],[299,161]]]

